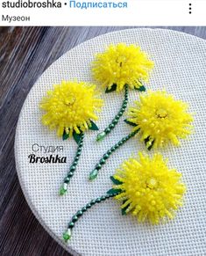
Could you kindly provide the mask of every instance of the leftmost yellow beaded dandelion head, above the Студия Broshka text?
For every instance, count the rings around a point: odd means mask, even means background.
[[[96,85],[63,81],[54,85],[53,91],[47,91],[40,103],[46,111],[42,123],[51,129],[57,129],[57,135],[64,131],[70,135],[80,134],[91,126],[91,120],[97,120],[96,111],[100,111],[103,100],[95,91]]]

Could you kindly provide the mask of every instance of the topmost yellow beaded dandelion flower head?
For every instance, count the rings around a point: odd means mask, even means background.
[[[153,62],[139,47],[119,43],[96,55],[92,71],[104,87],[110,90],[113,84],[117,84],[117,91],[121,91],[125,84],[131,89],[139,88],[142,81],[148,80],[148,71],[152,68]]]

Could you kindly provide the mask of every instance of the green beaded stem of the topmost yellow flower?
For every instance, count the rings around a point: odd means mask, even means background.
[[[97,142],[102,141],[103,138],[106,135],[110,134],[110,131],[113,128],[116,127],[120,117],[123,115],[123,113],[126,109],[127,103],[128,103],[128,84],[125,84],[124,85],[124,101],[123,101],[123,104],[122,104],[119,112],[116,114],[115,118],[110,122],[109,126],[107,128],[105,128],[102,133],[97,135],[97,137],[96,137]]]

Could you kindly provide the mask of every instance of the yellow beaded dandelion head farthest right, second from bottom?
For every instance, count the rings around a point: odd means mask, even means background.
[[[137,125],[134,130],[140,128],[147,148],[162,147],[168,142],[179,145],[178,139],[191,133],[193,118],[187,110],[186,103],[175,100],[166,91],[149,91],[129,108],[127,121]]]

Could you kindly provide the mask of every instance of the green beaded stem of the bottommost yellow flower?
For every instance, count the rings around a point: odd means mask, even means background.
[[[120,192],[119,192],[120,193]],[[101,201],[105,201],[106,199],[109,199],[110,197],[116,196],[117,193],[113,194],[105,194],[101,197],[97,197],[94,200],[89,201],[84,207],[82,207],[80,210],[78,210],[75,215],[71,218],[71,221],[68,223],[67,230],[63,233],[63,239],[65,242],[67,242],[71,236],[72,236],[72,229],[75,227],[75,223],[79,220],[79,218],[92,206],[94,206],[96,203],[100,203]]]

